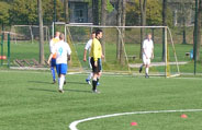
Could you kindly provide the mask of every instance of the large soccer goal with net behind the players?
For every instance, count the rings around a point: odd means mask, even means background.
[[[67,42],[74,46],[78,62],[83,71],[91,71],[88,62],[83,62],[83,50],[90,35],[97,28],[103,31],[101,39],[102,68],[104,72],[131,73],[144,75],[138,72],[143,64],[142,43],[146,34],[153,35],[155,58],[152,60],[149,75],[175,76],[179,75],[179,63],[175,50],[171,32],[167,26],[94,26],[66,24],[65,35]],[[162,29],[165,35],[162,35]],[[141,35],[143,34],[143,35]],[[162,44],[165,43],[165,44]]]

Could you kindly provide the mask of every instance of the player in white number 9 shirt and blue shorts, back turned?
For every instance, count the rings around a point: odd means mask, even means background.
[[[65,81],[65,75],[67,73],[67,59],[70,60],[70,54],[71,49],[67,43],[65,43],[65,35],[59,35],[59,42],[56,44],[56,46],[52,50],[52,55],[48,58],[48,63],[53,57],[54,54],[56,54],[56,70],[58,74],[58,83],[59,83],[59,92],[64,93],[63,85]]]

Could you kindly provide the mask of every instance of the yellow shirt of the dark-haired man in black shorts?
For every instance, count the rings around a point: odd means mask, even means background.
[[[98,58],[102,56],[102,46],[97,38],[92,39],[90,57],[93,57],[94,61],[98,61]]]

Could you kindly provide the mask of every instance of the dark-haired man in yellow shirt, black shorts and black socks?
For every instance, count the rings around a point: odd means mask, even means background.
[[[97,84],[99,82],[99,78],[101,74],[101,63],[100,63],[100,59],[103,57],[102,55],[102,46],[99,42],[99,39],[102,38],[102,31],[101,29],[97,29],[96,32],[96,38],[93,38],[92,40],[92,46],[91,46],[91,51],[90,51],[90,62],[92,66],[92,72],[93,72],[93,79],[92,79],[92,92],[93,93],[100,93],[97,90]]]

